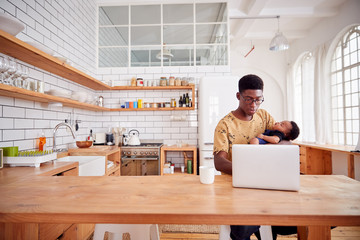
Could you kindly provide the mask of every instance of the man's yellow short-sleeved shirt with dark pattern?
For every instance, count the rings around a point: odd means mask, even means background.
[[[227,152],[231,161],[233,144],[248,144],[265,129],[272,129],[274,123],[274,118],[264,109],[257,110],[250,121],[240,120],[230,112],[215,128],[213,153]]]

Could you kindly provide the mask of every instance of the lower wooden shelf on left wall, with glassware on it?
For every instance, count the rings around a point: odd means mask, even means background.
[[[109,108],[99,107],[97,105],[89,104],[89,103],[82,103],[72,99],[52,96],[44,93],[34,92],[18,87],[13,87],[5,84],[0,83],[0,95],[6,97],[14,97],[20,98],[30,101],[42,102],[42,103],[51,103],[51,102],[59,102],[62,103],[63,106],[67,107],[76,107],[91,111],[109,111]]]

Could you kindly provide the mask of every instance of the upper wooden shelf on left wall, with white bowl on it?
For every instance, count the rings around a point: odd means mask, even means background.
[[[76,68],[44,53],[43,51],[0,30],[0,51],[6,55],[34,65],[94,90],[110,90],[107,84],[77,70]]]

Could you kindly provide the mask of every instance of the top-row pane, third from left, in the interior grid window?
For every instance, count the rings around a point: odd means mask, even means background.
[[[193,4],[163,5],[164,23],[193,23]]]

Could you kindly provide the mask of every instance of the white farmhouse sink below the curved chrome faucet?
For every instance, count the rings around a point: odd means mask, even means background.
[[[59,162],[79,162],[79,176],[104,176],[105,156],[67,156]]]

